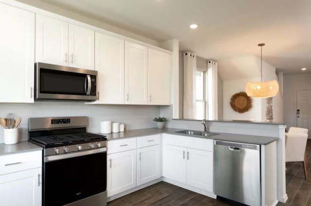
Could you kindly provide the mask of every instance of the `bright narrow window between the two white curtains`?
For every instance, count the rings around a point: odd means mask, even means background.
[[[206,78],[207,71],[197,69],[196,71],[196,119],[203,120],[207,118],[207,95]]]

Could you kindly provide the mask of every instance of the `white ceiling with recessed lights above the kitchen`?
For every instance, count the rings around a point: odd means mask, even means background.
[[[206,59],[260,55],[287,74],[311,72],[311,0],[41,0]],[[199,27],[191,30],[189,25]]]

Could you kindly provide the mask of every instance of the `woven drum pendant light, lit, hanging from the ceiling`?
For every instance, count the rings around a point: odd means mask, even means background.
[[[257,97],[257,98],[268,98],[274,97],[278,93],[278,84],[276,80],[262,82],[262,47],[264,43],[258,44],[261,47],[261,64],[260,64],[260,73],[261,79],[260,82],[248,82],[246,84],[246,94],[249,97]]]

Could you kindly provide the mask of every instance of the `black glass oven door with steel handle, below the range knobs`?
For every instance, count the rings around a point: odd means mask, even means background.
[[[92,206],[105,205],[106,196],[98,194],[106,191],[106,161],[106,148],[44,157],[43,206],[86,203],[86,200],[97,202]]]

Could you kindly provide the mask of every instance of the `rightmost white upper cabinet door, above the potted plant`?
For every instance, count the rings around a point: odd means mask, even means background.
[[[171,56],[148,49],[148,104],[171,103]]]

